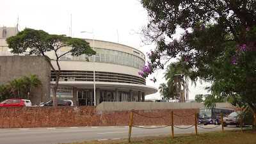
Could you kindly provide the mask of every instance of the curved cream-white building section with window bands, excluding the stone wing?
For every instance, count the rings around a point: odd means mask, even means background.
[[[113,42],[89,39],[86,41],[97,52],[95,57],[66,54],[61,56],[59,61],[61,67],[59,85],[73,87],[73,97],[77,98],[78,106],[94,105],[94,84],[97,105],[103,101],[144,101],[145,95],[157,92],[156,88],[147,86],[145,79],[138,75],[145,65],[143,52]],[[68,49],[63,47],[58,54],[64,54]],[[47,55],[53,59],[54,68],[58,69],[54,52],[51,54],[49,52]],[[95,79],[93,79],[93,71],[95,71]],[[55,78],[52,72],[51,84],[55,83]]]

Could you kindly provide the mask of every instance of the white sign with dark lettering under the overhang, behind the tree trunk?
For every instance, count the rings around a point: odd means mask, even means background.
[[[51,97],[52,88],[54,85],[51,84]],[[57,97],[70,97],[73,98],[73,86],[61,86],[59,85],[56,92]]]

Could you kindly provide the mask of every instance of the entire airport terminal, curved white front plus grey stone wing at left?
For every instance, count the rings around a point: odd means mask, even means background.
[[[16,28],[0,28],[0,84],[20,78],[24,75],[37,74],[42,81],[42,88],[32,92],[33,103],[51,100],[51,86],[56,81],[54,72],[42,56],[12,54],[5,40],[17,33]],[[61,72],[58,86],[58,99],[70,99],[76,106],[93,106],[100,102],[144,101],[145,96],[156,93],[157,88],[147,86],[146,79],[139,76],[145,65],[145,54],[127,45],[86,39],[97,52],[86,58],[65,54],[59,60]],[[62,55],[70,47],[62,47]],[[54,52],[46,53],[56,70]],[[89,61],[86,61],[88,59]],[[95,99],[94,99],[95,93]]]

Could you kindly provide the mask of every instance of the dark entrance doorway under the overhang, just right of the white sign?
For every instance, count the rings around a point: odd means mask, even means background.
[[[78,106],[94,106],[93,91],[92,90],[77,90],[77,105]]]

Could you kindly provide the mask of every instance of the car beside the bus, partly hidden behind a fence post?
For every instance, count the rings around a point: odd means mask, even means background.
[[[227,127],[227,125],[236,125],[237,127],[241,126],[240,115],[242,115],[243,126],[252,125],[253,123],[253,115],[250,115],[248,112],[241,113],[240,111],[236,111],[230,113],[227,117],[223,118],[223,126]]]

